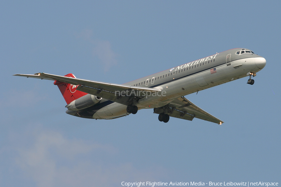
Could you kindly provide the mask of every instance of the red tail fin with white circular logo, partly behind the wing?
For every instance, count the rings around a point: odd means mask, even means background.
[[[64,75],[64,76],[76,78],[74,76],[74,74],[72,74],[72,73]],[[71,103],[71,101],[74,101],[75,99],[78,99],[87,94],[85,92],[76,90],[78,85],[67,84],[67,83],[63,83],[61,81],[57,81],[57,80],[54,82],[54,84],[57,85],[57,87],[60,89],[62,96],[65,99],[65,101],[67,102],[67,104],[69,104],[69,103]]]

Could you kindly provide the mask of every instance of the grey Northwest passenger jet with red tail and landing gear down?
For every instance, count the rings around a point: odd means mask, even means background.
[[[67,103],[66,113],[76,117],[115,119],[153,108],[160,122],[166,123],[170,117],[190,121],[199,118],[221,125],[222,120],[184,96],[247,76],[247,84],[253,85],[252,76],[265,64],[266,60],[252,50],[235,48],[125,84],[78,79],[73,74],[14,75],[55,81]]]

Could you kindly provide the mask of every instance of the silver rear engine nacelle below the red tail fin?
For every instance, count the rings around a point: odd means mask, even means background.
[[[65,106],[68,110],[81,110],[84,108],[91,107],[101,101],[102,98],[96,97],[95,95],[87,94],[78,98],[67,106]]]

